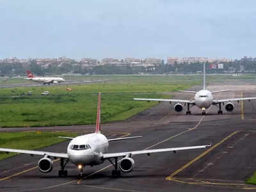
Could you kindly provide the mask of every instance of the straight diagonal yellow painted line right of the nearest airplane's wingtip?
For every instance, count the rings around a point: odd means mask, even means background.
[[[216,145],[212,146],[211,148],[205,150],[204,153],[200,154],[199,156],[197,156],[195,159],[189,161],[189,163],[185,164],[184,166],[182,166],[181,168],[179,168],[179,170],[176,170],[175,172],[173,172],[170,176],[166,177],[166,180],[172,180],[172,177],[174,177],[175,175],[177,175],[178,173],[182,172],[184,169],[188,168],[188,166],[190,166],[191,164],[195,163],[195,161],[197,161],[198,159],[200,159],[201,157],[204,157],[206,154],[208,154],[209,152],[211,152],[211,150],[213,150],[214,148],[218,147],[219,145],[221,145],[221,143],[223,143],[224,141],[228,140],[228,138],[231,138],[232,136],[234,136],[234,134],[236,134],[239,131],[235,131],[232,134],[228,135],[226,138],[224,138],[223,140],[221,140],[219,143],[217,143]]]

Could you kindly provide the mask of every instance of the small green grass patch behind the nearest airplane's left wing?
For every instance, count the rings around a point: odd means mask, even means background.
[[[0,147],[1,148],[19,148],[26,150],[35,150],[44,148],[66,139],[58,138],[58,136],[75,137],[77,133],[70,132],[1,132]],[[0,152],[0,160],[7,157],[15,156],[15,153],[6,154]]]

